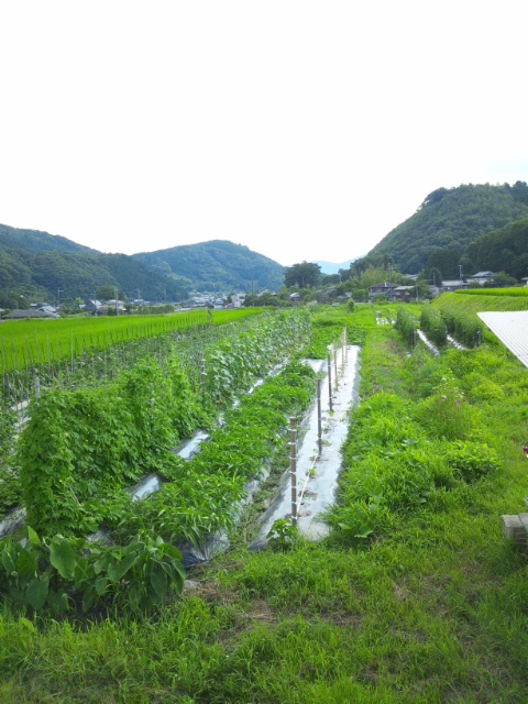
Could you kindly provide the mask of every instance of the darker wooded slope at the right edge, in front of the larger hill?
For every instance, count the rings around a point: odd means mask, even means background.
[[[518,280],[528,276],[528,219],[481,235],[470,244],[465,258],[475,272],[505,272]]]

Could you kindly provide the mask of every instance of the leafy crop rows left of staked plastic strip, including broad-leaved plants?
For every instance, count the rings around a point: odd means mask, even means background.
[[[43,389],[16,448],[4,431],[0,507],[23,504],[28,540],[0,542],[0,590],[61,615],[144,609],[180,588],[174,543],[197,544],[232,525],[246,482],[284,450],[287,416],[311,403],[315,374],[295,361],[245,394],[308,343],[310,328],[307,311],[290,310],[260,316],[216,343],[200,338],[207,373],[198,386],[173,340],[172,353],[144,356],[98,384]],[[4,410],[4,429],[9,419]],[[210,440],[185,461],[174,450],[198,428],[209,428]],[[162,488],[133,501],[127,488],[150,472]],[[87,553],[86,536],[100,526],[114,542]]]

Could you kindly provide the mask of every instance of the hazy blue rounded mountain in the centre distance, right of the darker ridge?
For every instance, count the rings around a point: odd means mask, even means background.
[[[228,240],[185,244],[132,256],[162,274],[185,276],[197,290],[277,289],[284,277],[284,266]]]

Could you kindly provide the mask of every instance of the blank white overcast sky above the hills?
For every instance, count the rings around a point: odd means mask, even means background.
[[[0,0],[0,222],[102,252],[365,254],[528,180],[521,0]]]

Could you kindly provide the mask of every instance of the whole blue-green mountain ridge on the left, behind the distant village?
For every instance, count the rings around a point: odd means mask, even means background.
[[[276,289],[284,267],[229,241],[134,255],[103,254],[40,230],[0,226],[0,293],[30,299],[94,298],[114,286],[129,298],[183,300],[191,290]]]

